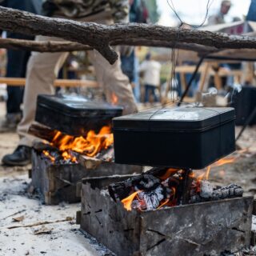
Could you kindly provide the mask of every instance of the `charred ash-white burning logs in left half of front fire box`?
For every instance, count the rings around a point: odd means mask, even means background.
[[[178,186],[178,178],[171,177],[178,170],[153,168],[146,174],[129,178],[126,181],[110,184],[110,197],[114,201],[126,202],[127,209],[153,210],[169,202]],[[166,176],[168,175],[168,176]]]

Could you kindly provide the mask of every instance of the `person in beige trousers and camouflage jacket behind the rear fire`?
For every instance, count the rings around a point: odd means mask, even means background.
[[[114,22],[129,21],[129,2],[127,0],[45,0],[42,14],[50,17],[69,18],[79,22],[98,22],[105,25]],[[37,41],[65,41],[39,35]],[[113,65],[102,57],[97,50],[89,53],[94,64],[96,77],[111,102],[113,94],[118,98],[118,105],[123,106],[123,114],[137,111],[129,79],[122,73],[120,59]],[[34,137],[28,134],[34,121],[38,94],[54,94],[54,78],[58,75],[68,53],[33,52],[26,71],[26,87],[23,98],[23,117],[18,124],[20,141],[13,154],[2,158],[2,163],[9,166],[24,166],[30,163],[31,147]]]

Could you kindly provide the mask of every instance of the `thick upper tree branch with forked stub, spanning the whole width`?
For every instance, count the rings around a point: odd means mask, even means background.
[[[116,44],[141,43],[147,46],[151,43],[154,43],[154,46],[173,44],[178,48],[186,43],[216,49],[256,49],[256,38],[245,36],[137,23],[105,26],[93,22],[47,18],[4,7],[0,7],[0,28],[23,34],[42,34],[79,42],[98,50],[111,64],[116,61],[118,54],[110,48],[110,45]]]

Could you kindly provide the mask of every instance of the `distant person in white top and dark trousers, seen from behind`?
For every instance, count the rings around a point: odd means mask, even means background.
[[[154,102],[158,102],[158,97],[155,90],[160,84],[160,71],[161,64],[152,60],[151,54],[146,54],[146,59],[139,66],[139,71],[143,72],[142,78],[145,86],[145,99],[144,102],[149,102],[150,94],[154,97]]]

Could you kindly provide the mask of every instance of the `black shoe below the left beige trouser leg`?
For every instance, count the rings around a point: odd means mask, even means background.
[[[31,162],[30,146],[18,146],[13,154],[6,154],[2,163],[6,166],[26,166]]]

